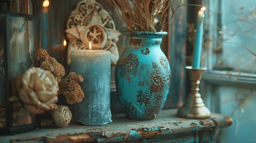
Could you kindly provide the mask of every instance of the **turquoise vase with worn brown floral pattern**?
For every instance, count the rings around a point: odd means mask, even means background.
[[[126,117],[155,119],[169,91],[171,69],[160,45],[167,32],[123,32],[126,50],[115,71],[117,94]]]

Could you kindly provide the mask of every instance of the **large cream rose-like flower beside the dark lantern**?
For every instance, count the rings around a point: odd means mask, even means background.
[[[57,107],[59,86],[50,71],[31,67],[19,80],[19,96],[30,112],[40,114]]]

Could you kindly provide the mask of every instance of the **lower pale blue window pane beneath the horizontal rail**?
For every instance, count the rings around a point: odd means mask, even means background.
[[[256,90],[219,86],[215,88],[215,93],[213,98],[219,99],[219,103],[216,103],[219,106],[215,105],[215,108],[233,119],[233,125],[220,130],[217,142],[255,142],[256,114],[253,105],[256,103]]]

